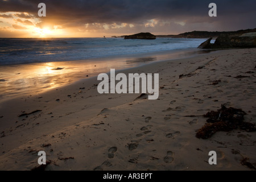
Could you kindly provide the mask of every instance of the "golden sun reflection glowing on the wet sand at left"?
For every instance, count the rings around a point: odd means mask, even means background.
[[[128,68],[122,60],[64,61],[0,67],[0,99],[32,94],[93,77],[110,68]]]

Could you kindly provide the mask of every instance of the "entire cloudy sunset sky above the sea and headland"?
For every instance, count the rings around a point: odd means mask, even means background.
[[[217,17],[210,17],[210,3]],[[46,17],[39,17],[39,3]],[[0,0],[1,38],[110,37],[256,28],[255,0]]]

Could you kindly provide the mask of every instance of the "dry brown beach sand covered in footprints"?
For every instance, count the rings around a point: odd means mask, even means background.
[[[234,49],[122,71],[159,73],[158,100],[98,94],[94,77],[2,102],[0,169],[38,167],[43,150],[47,170],[252,170],[241,160],[256,163],[256,132],[199,139],[206,118],[186,116],[225,104],[256,123],[255,65],[256,49]],[[42,111],[18,117],[35,110]],[[209,151],[217,152],[217,165],[208,164]]]

